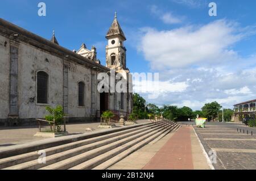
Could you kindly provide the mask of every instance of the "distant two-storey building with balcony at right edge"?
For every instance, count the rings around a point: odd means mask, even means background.
[[[255,117],[255,104],[256,99],[234,105],[233,120],[238,123],[242,122],[243,118],[245,117]]]

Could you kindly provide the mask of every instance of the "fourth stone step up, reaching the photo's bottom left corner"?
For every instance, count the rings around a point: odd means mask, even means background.
[[[107,144],[112,144],[113,142],[118,142],[118,140],[122,140],[123,138],[132,136],[134,134],[138,134],[141,133],[143,131],[151,131],[151,129],[155,129],[157,127],[159,127],[160,125],[152,125],[151,127],[146,127],[143,129],[139,129],[137,131],[134,132],[129,132],[126,134],[121,134],[121,137],[110,137],[108,139],[104,139],[98,142],[93,142],[91,144],[87,144],[87,145],[83,145],[77,148],[73,148],[73,149],[69,149],[66,151],[61,151],[60,153],[56,153],[56,154],[52,154],[52,155],[47,155],[47,161],[46,164],[39,164],[38,163],[38,157],[32,161],[29,162],[24,162],[24,163],[20,163],[18,165],[14,165],[11,167],[6,167],[5,169],[9,170],[19,170],[19,169],[40,169],[40,167],[44,167],[47,165],[51,165],[53,163],[62,161],[63,159],[68,159],[71,157],[75,157],[78,154],[82,154],[85,151],[90,151],[93,149],[97,149],[100,148],[101,146],[107,145]]]

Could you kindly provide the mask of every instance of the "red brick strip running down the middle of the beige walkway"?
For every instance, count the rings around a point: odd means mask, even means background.
[[[192,127],[181,127],[143,170],[193,170]]]

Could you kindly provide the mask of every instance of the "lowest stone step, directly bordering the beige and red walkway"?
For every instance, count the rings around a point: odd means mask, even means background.
[[[139,144],[136,144],[134,146],[131,146],[131,148],[126,149],[122,153],[115,155],[114,157],[108,159],[107,161],[101,163],[100,165],[97,165],[96,167],[93,167],[92,170],[106,170],[110,166],[114,165],[115,163],[121,161],[122,159],[126,158],[131,153],[134,153],[138,149],[141,149],[143,146],[150,144],[155,139],[158,139],[160,136],[166,136],[168,133],[170,133],[170,130],[164,130],[162,132],[159,132],[158,134],[154,134],[151,137],[146,138],[145,140],[141,141]],[[79,169],[79,167],[73,167],[72,169]]]

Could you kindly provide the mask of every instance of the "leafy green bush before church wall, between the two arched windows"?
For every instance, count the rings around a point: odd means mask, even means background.
[[[61,131],[61,124],[64,123],[64,111],[62,106],[56,106],[56,108],[52,108],[47,106],[46,110],[50,113],[46,115],[46,120],[53,122],[55,120],[55,130],[53,132]],[[49,123],[53,125],[53,123]]]

